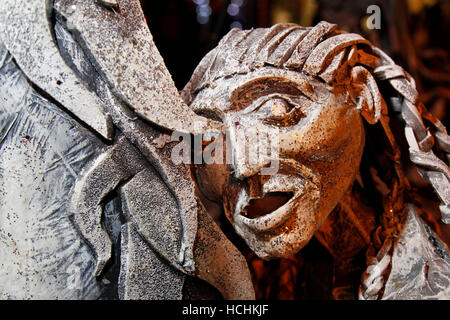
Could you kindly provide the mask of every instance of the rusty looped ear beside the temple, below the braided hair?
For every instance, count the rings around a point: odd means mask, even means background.
[[[364,67],[352,69],[351,94],[357,109],[370,124],[375,124],[381,115],[387,115],[387,106],[372,74]]]

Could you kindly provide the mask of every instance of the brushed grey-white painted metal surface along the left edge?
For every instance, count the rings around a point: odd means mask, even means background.
[[[0,44],[0,299],[96,299],[95,257],[67,214],[103,143],[41,97]]]

